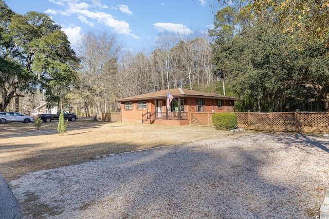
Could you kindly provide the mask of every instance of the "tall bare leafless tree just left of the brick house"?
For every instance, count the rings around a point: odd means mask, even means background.
[[[106,112],[108,103],[114,103],[116,98],[117,60],[121,46],[114,34],[88,32],[82,36],[78,50],[82,65],[82,99],[97,120],[97,115]]]

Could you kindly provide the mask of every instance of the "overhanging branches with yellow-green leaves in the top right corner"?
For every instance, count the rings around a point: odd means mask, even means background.
[[[228,0],[216,2],[226,4]],[[300,38],[304,43],[320,41],[323,46],[329,46],[328,0],[234,0],[232,2],[240,13],[253,11],[255,16],[263,18],[264,22],[276,22],[281,32]],[[303,46],[303,44],[297,45]]]

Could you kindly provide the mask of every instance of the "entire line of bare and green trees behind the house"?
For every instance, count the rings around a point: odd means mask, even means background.
[[[0,1],[0,111],[44,99],[96,120],[120,110],[118,98],[178,87],[224,94],[223,80],[226,95],[240,98],[235,111],[329,111],[329,5],[313,7],[322,23],[306,9],[296,23],[297,3],[260,2],[222,7],[208,34],[161,32],[150,54],[134,54],[109,32],[87,32],[73,50],[48,15]],[[307,23],[317,27],[307,32]]]

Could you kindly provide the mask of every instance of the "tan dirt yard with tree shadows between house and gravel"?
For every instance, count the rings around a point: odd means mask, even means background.
[[[0,127],[0,174],[7,181],[27,172],[80,164],[110,153],[186,143],[219,135],[236,135],[211,127],[69,122],[67,133],[57,132],[57,122],[10,123]],[[243,134],[243,133],[240,133]]]

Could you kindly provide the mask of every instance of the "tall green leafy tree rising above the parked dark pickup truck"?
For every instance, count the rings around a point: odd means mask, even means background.
[[[9,33],[19,52],[13,58],[36,77],[30,82],[46,90],[48,101],[63,98],[74,83],[79,60],[60,26],[48,15],[31,11],[13,15]]]

